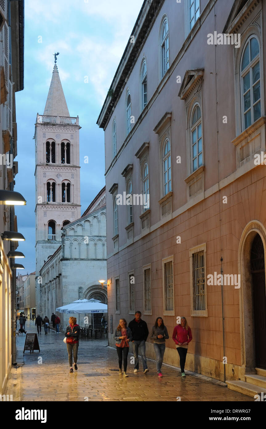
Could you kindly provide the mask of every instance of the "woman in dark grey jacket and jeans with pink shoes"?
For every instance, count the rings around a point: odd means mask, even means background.
[[[162,317],[157,317],[150,333],[150,339],[153,340],[153,347],[156,354],[156,369],[158,377],[162,377],[161,365],[164,360],[165,340],[169,338],[167,328],[164,326]]]

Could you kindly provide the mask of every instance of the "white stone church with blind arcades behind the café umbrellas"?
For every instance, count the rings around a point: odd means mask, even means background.
[[[76,299],[94,298],[107,304],[107,287],[99,284],[107,279],[105,187],[80,219],[63,227],[61,245],[42,266],[40,276],[42,316],[51,318],[57,307]],[[73,316],[84,326],[84,315]],[[60,320],[63,330],[69,314],[61,313]]]

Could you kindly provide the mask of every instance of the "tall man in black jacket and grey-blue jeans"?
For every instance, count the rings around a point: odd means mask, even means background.
[[[132,346],[134,351],[134,372],[136,373],[139,369],[138,364],[138,351],[140,351],[140,356],[143,363],[143,372],[146,374],[148,372],[146,356],[145,356],[145,341],[148,338],[149,330],[147,323],[141,319],[140,311],[136,311],[135,318],[129,322],[129,328],[132,332]]]

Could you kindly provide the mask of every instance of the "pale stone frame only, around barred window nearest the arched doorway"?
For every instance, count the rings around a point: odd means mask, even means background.
[[[194,287],[194,267],[193,267],[193,255],[203,251],[204,255],[204,284],[205,284],[205,309],[196,310],[194,307],[194,296],[195,296],[195,287]],[[207,282],[206,282],[206,243],[195,246],[189,249],[189,264],[190,264],[190,305],[191,305],[191,316],[203,316],[208,317],[208,308],[207,308]]]

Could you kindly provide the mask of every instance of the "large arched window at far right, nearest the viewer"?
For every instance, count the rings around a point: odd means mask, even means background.
[[[260,47],[251,36],[245,44],[241,60],[242,123],[244,130],[261,116]]]

